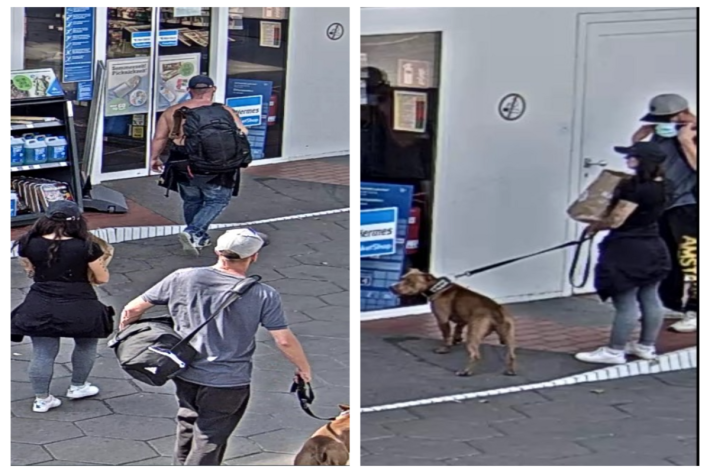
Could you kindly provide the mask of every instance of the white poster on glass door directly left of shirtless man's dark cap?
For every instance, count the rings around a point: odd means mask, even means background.
[[[190,98],[187,84],[200,73],[200,53],[158,57],[158,111]]]

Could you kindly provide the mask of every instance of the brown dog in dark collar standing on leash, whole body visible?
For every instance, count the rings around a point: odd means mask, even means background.
[[[508,348],[505,374],[515,375],[515,322],[510,314],[490,297],[453,283],[435,287],[438,281],[431,274],[412,269],[390,289],[400,296],[427,296],[444,338],[444,346],[434,350],[436,353],[449,353],[453,345],[463,341],[466,329],[469,362],[456,372],[458,376],[473,374],[476,361],[481,358],[481,342],[493,332]],[[455,325],[453,334],[452,323]]]

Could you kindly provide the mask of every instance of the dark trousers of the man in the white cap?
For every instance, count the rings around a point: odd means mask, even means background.
[[[174,381],[179,409],[173,464],[220,465],[249,403],[249,386],[211,388]]]

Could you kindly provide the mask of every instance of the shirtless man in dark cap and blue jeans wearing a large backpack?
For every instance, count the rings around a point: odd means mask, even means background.
[[[217,88],[212,79],[195,76],[188,83],[190,99],[173,105],[163,112],[158,120],[155,136],[151,142],[151,169],[163,171],[160,159],[166,146],[170,144],[170,155],[166,169],[161,176],[161,185],[168,190],[179,191],[183,200],[183,214],[187,227],[180,233],[183,249],[193,255],[211,244],[207,229],[215,218],[229,205],[230,199],[239,193],[240,173],[236,171],[199,174],[191,172],[186,163],[189,156],[184,148],[185,135],[183,121],[177,112],[183,108],[198,109],[210,107]],[[229,107],[223,106],[232,116],[237,128],[248,134],[247,128],[239,115]]]

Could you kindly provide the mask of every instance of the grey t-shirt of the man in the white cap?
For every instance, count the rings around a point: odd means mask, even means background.
[[[211,267],[179,269],[149,289],[143,299],[167,305],[175,329],[185,336],[213,315],[240,280]],[[199,355],[179,378],[219,388],[250,384],[260,325],[267,330],[288,326],[279,293],[257,283],[195,335],[191,344]]]

